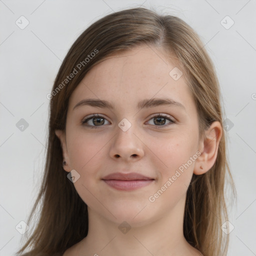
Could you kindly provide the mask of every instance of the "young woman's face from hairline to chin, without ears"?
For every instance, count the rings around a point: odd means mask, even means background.
[[[80,175],[73,184],[89,212],[139,226],[184,201],[199,155],[199,130],[184,77],[169,74],[176,66],[160,49],[140,45],[95,65],[73,91],[66,170]],[[89,98],[113,108],[86,103]],[[115,172],[122,175],[104,179]],[[143,177],[125,175],[130,172]]]

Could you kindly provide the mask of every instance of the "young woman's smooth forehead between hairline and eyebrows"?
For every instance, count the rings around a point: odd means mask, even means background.
[[[139,99],[170,96],[177,101],[192,103],[192,96],[179,62],[160,48],[139,45],[104,58],[92,67],[73,91],[69,106],[84,98],[107,99],[122,104],[135,104]],[[180,73],[178,73],[180,75]],[[174,77],[175,78],[175,77]]]

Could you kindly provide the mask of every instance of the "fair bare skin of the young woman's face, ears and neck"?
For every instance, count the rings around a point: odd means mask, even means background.
[[[160,48],[139,45],[95,65],[71,94],[66,130],[55,133],[67,163],[64,169],[80,175],[73,184],[88,206],[89,229],[64,256],[202,255],[183,236],[185,196],[192,174],[202,174],[214,164],[222,129],[215,121],[205,130],[206,138],[200,139],[196,106],[185,79],[169,75],[175,66],[178,63],[167,59]],[[152,97],[171,98],[184,109],[159,105],[138,111],[137,102]],[[83,105],[73,109],[86,98],[112,101],[115,108]],[[157,113],[175,123],[163,119],[160,125],[152,117]],[[87,122],[98,128],[81,124],[91,114],[105,118],[101,126],[93,119]],[[123,118],[131,124],[126,131],[118,126]],[[189,167],[155,201],[149,201],[197,151],[201,154]],[[120,191],[101,179],[124,169],[154,181]],[[131,226],[127,233],[118,229],[123,221]]]

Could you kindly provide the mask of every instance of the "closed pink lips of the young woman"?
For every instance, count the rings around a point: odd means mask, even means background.
[[[136,172],[115,172],[104,176],[103,181],[118,190],[134,190],[150,184],[154,178],[143,176]]]

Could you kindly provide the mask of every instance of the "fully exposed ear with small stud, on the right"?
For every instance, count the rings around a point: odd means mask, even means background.
[[[222,127],[220,122],[212,122],[210,127],[205,131],[205,138],[199,143],[199,151],[201,154],[195,161],[194,174],[203,174],[213,166],[217,158],[218,145],[221,136]]]

